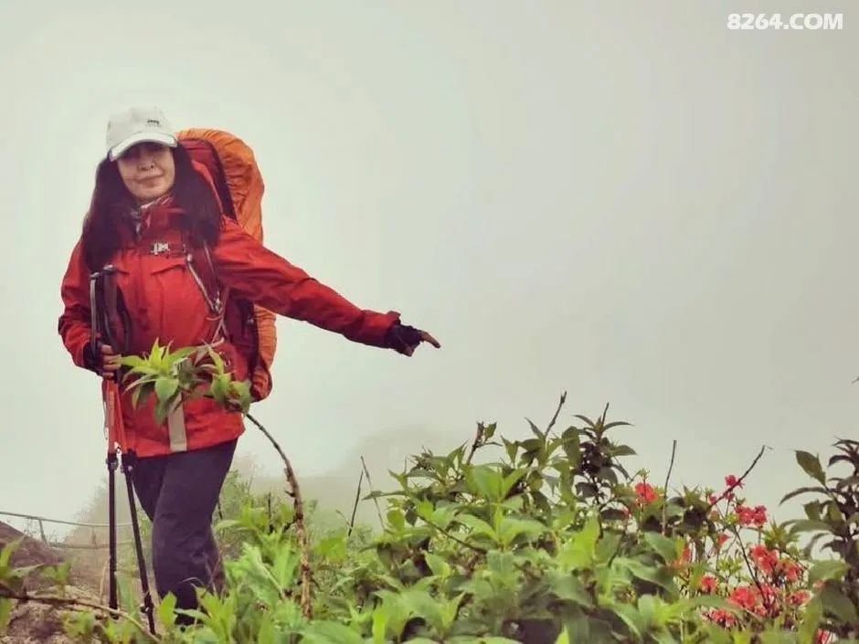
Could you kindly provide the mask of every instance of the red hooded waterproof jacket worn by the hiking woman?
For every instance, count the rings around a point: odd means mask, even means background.
[[[148,352],[157,338],[172,349],[212,340],[213,322],[206,301],[182,253],[154,254],[154,244],[180,245],[181,231],[175,206],[154,206],[144,218],[139,239],[129,235],[111,258],[118,269],[117,285],[132,320],[132,354]],[[380,313],[357,308],[336,291],[314,280],[304,270],[265,248],[234,220],[223,217],[217,244],[212,247],[218,278],[229,290],[281,315],[310,322],[347,339],[385,347],[388,328],[399,320],[397,311]],[[80,241],[69,259],[60,295],[65,309],[58,331],[74,364],[85,367],[84,348],[90,342],[90,270]],[[231,362],[234,378],[248,377],[247,364],[229,343],[218,351]],[[124,389],[125,385],[122,385]],[[127,448],[138,456],[200,449],[237,438],[243,432],[241,414],[228,412],[208,398],[186,402],[178,417],[156,425],[154,396],[133,409],[131,395],[122,395]]]

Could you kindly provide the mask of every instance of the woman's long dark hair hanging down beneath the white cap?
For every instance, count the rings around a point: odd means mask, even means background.
[[[221,212],[212,188],[191,164],[191,155],[182,145],[172,150],[175,163],[173,200],[182,209],[182,227],[192,246],[199,248],[205,240],[217,243]],[[120,229],[130,226],[128,216],[137,209],[133,195],[122,183],[115,162],[105,158],[95,174],[90,210],[83,221],[81,246],[90,270],[100,270],[120,248]]]

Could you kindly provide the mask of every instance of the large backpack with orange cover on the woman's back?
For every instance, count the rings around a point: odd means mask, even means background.
[[[224,213],[262,242],[262,194],[265,185],[253,150],[230,132],[192,128],[178,133],[191,158],[204,164],[215,182]],[[235,295],[228,298],[224,322],[230,342],[248,361],[250,395],[262,400],[271,392],[270,367],[277,348],[275,314]]]

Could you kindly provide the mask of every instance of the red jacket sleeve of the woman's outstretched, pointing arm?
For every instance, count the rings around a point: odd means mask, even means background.
[[[387,331],[399,321],[398,311],[358,308],[265,248],[234,220],[225,216],[223,221],[212,259],[224,286],[269,311],[340,333],[353,342],[388,348]]]

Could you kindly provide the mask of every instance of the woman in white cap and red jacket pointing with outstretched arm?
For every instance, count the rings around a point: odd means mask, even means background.
[[[193,269],[205,268],[206,257],[228,298],[399,354],[410,356],[424,342],[440,347],[430,333],[401,323],[397,311],[360,309],[263,246],[225,215],[216,179],[191,158],[161,110],[111,117],[106,156],[60,290],[58,333],[74,364],[116,383],[120,355],[143,355],[156,339],[173,350],[210,343],[235,380],[249,379],[246,354],[225,333],[225,315],[213,313],[212,294]],[[109,264],[127,328],[113,332],[124,346],[105,343],[94,354],[90,274]],[[153,400],[134,409],[124,388],[121,400],[122,449],[135,459],[133,488],[153,522],[156,590],[162,597],[173,592],[179,608],[196,607],[195,586],[217,591],[223,583],[211,522],[243,417],[200,397],[158,425]]]

